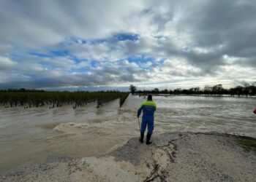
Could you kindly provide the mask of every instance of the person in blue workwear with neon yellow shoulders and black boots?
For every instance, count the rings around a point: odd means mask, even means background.
[[[141,111],[143,111],[142,122],[140,127],[140,142],[143,143],[144,132],[148,126],[148,133],[146,138],[146,144],[151,144],[151,135],[154,130],[154,111],[157,110],[157,104],[153,102],[152,95],[148,95],[148,99],[144,101],[138,109],[138,118],[140,117]]]

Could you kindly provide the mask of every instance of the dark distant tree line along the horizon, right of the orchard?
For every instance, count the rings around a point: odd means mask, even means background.
[[[132,85],[133,86],[133,85]],[[192,87],[190,89],[176,88],[175,90],[159,90],[154,88],[153,90],[137,90],[133,86],[133,90],[137,94],[171,94],[171,95],[206,95],[206,96],[223,96],[229,95],[231,97],[248,97],[256,95],[256,82],[254,84],[244,84],[244,86],[231,87],[225,89],[222,84],[216,84],[214,86],[206,85],[203,89],[200,87]],[[132,90],[131,90],[132,91]]]

